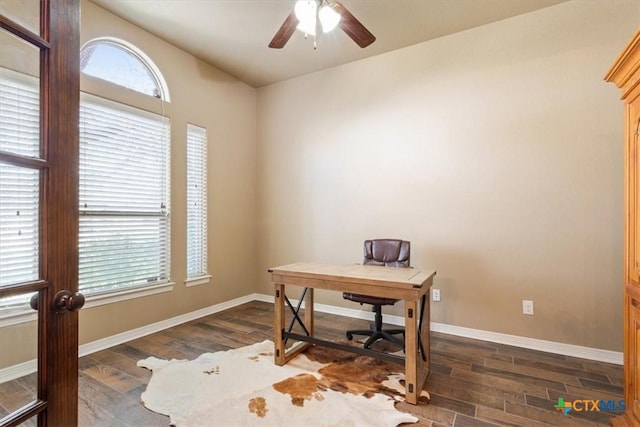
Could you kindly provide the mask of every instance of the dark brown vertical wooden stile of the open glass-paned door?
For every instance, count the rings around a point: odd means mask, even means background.
[[[78,290],[78,185],[80,122],[80,0],[49,3],[50,49],[42,51],[41,90],[48,104],[42,117],[44,179],[42,268],[49,282],[38,316],[38,396],[47,402],[39,425],[78,424],[78,313],[55,313],[54,298],[62,290]],[[44,8],[43,8],[44,9]],[[42,16],[42,19],[46,19]]]

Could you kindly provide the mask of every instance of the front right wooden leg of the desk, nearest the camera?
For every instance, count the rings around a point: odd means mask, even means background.
[[[420,389],[418,387],[418,302],[404,302],[404,375],[405,401],[416,405]]]

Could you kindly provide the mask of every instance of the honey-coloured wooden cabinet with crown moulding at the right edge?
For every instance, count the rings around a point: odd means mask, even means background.
[[[624,388],[613,426],[640,426],[640,31],[607,74],[624,102]]]

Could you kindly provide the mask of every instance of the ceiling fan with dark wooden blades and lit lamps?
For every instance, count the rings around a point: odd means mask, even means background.
[[[375,36],[341,3],[328,0],[297,0],[294,10],[273,36],[269,47],[283,48],[296,29],[315,37],[321,31],[328,33],[336,26],[340,27],[360,47],[367,47],[376,40]]]

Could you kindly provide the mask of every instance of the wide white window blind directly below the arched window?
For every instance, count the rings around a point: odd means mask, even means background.
[[[169,280],[169,120],[83,94],[79,288]]]

